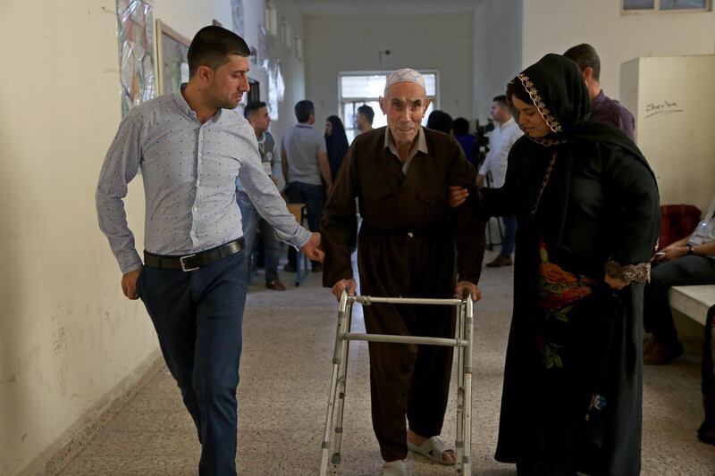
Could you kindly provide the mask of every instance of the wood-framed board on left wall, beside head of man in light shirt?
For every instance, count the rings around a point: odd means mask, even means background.
[[[156,21],[156,41],[159,52],[159,94],[178,91],[181,83],[189,81],[189,38],[181,36],[166,26],[161,20]]]

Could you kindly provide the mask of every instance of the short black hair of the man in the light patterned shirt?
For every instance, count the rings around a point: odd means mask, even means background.
[[[189,46],[189,77],[193,77],[199,66],[215,70],[229,61],[230,54],[250,56],[248,45],[231,30],[208,26],[198,30]]]

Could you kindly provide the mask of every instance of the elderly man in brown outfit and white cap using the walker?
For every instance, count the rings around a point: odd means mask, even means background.
[[[420,126],[429,100],[414,70],[388,76],[380,107],[388,127],[355,138],[325,206],[321,230],[328,258],[323,284],[340,299],[355,294],[350,263],[359,201],[357,239],[361,293],[368,296],[450,298],[476,288],[484,255],[484,222],[477,194],[456,209],[447,186],[474,188],[476,171],[458,142]],[[455,280],[455,245],[458,282]],[[374,304],[364,308],[369,333],[453,337],[448,306]],[[454,464],[438,435],[447,407],[452,347],[369,343],[373,428],[383,475],[408,474],[408,449],[436,463]],[[405,418],[409,423],[409,430]]]

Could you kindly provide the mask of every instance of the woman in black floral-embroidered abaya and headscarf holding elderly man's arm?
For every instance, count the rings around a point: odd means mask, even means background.
[[[526,135],[494,216],[517,215],[496,459],[519,475],[640,472],[643,290],[660,228],[643,154],[589,121],[576,63],[547,54],[507,88]]]

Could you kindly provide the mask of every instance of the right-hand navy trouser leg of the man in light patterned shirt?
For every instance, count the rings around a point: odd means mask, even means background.
[[[239,361],[246,304],[246,257],[243,252],[198,271],[197,338],[193,386],[201,408],[199,474],[236,474]]]

